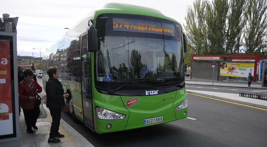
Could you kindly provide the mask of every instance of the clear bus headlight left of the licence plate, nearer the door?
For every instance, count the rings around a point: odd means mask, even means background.
[[[109,111],[101,107],[96,107],[96,117],[103,120],[117,120],[124,119],[126,115]]]

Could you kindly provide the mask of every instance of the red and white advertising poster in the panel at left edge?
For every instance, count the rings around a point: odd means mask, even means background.
[[[0,39],[0,135],[13,134],[10,40]]]

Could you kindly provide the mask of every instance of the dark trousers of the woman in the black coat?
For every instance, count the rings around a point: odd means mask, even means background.
[[[61,119],[61,107],[60,108],[49,108],[50,114],[52,116],[52,124],[50,129],[49,138],[53,139],[55,135],[59,134],[59,125]]]

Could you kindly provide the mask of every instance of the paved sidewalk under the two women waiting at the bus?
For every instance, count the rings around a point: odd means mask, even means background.
[[[47,118],[37,119],[36,126],[38,130],[32,129],[33,134],[27,133],[27,126],[24,121],[23,111],[20,113],[20,146],[21,147],[93,147],[93,145],[86,140],[79,132],[73,129],[68,123],[63,119],[60,121],[59,132],[64,134],[65,137],[56,137],[60,139],[59,143],[47,143],[50,133],[50,127],[52,123],[52,117],[50,115],[49,109],[43,104],[47,111]]]

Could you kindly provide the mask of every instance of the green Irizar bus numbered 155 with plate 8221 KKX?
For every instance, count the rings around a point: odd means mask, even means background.
[[[182,26],[158,10],[108,3],[43,54],[69,93],[69,114],[98,134],[187,118]]]

